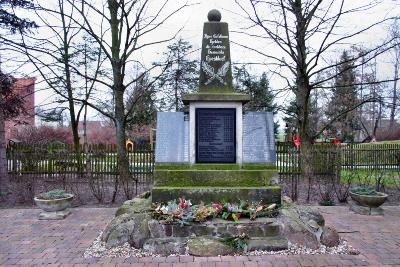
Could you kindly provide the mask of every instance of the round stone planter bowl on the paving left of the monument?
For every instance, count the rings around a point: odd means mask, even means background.
[[[71,207],[73,198],[73,194],[66,193],[63,190],[52,190],[35,197],[36,206],[44,211],[40,214],[39,219],[64,219],[70,214],[68,208]]]

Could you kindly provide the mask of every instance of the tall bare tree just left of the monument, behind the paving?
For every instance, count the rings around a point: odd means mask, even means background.
[[[87,32],[100,46],[108,64],[111,66],[111,77],[99,79],[90,77],[97,83],[108,88],[112,95],[113,110],[107,112],[103,105],[93,101],[83,102],[101,114],[109,117],[115,124],[117,137],[118,171],[122,182],[129,182],[129,163],[125,148],[125,131],[130,110],[126,109],[126,89],[144,77],[150,70],[147,69],[135,79],[129,79],[127,70],[138,62],[138,52],[144,48],[167,42],[173,39],[146,41],[148,36],[160,30],[171,16],[187,6],[187,2],[177,5],[174,2],[172,11],[166,11],[169,1],[162,0],[155,3],[149,0],[107,0],[101,4],[89,1],[66,0],[76,12],[71,18],[85,32]],[[151,69],[151,68],[150,68]],[[104,98],[104,96],[103,96]],[[115,198],[115,194],[114,194]]]

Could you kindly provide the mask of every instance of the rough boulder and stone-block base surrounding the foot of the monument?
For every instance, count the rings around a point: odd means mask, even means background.
[[[147,196],[147,194],[146,194]],[[101,240],[107,248],[124,245],[154,254],[190,254],[194,256],[233,255],[252,250],[284,250],[288,242],[317,249],[321,244],[339,244],[339,235],[325,219],[310,207],[292,206],[279,209],[277,217],[241,217],[233,222],[209,218],[205,222],[156,220],[150,198],[126,201],[115,218],[104,229]],[[228,237],[245,237],[246,247],[235,249]]]

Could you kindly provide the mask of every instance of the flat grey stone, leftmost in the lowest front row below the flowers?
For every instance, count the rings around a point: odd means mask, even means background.
[[[150,238],[143,244],[143,250],[155,254],[186,254],[187,238]]]

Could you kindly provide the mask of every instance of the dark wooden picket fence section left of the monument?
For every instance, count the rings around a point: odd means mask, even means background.
[[[8,173],[47,178],[86,173],[118,175],[116,145],[89,144],[85,150],[81,145],[80,151],[77,155],[71,144],[13,144],[7,147]],[[127,156],[132,175],[153,173],[154,150],[150,145],[135,145]]]

